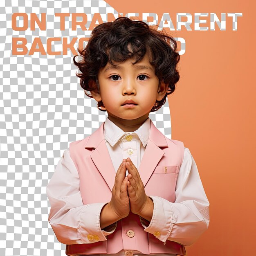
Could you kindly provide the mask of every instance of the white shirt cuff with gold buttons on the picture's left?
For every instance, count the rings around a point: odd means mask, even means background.
[[[105,231],[100,226],[101,209],[107,203],[87,204],[81,212],[79,231],[83,243],[96,243],[107,240],[106,236],[112,234],[117,225]]]

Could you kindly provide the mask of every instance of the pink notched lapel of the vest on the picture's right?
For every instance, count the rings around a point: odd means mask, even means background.
[[[148,144],[139,166],[139,175],[144,186],[146,186],[150,176],[155,170],[155,167],[164,155],[164,150],[159,148],[160,146],[168,147],[168,144],[166,142],[165,136],[155,127],[152,120],[150,119]]]

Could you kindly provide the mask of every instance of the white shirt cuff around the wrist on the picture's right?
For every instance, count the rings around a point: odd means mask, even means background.
[[[165,243],[171,234],[173,225],[173,207],[171,202],[164,198],[158,196],[149,197],[154,203],[153,216],[148,227],[146,227],[145,224],[147,223],[143,221],[143,218],[141,220],[141,225],[144,227],[144,231],[153,234],[156,238]]]

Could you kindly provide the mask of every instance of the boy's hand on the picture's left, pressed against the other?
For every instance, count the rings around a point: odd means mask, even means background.
[[[128,216],[130,212],[130,203],[127,192],[128,178],[126,175],[125,159],[120,164],[115,177],[115,185],[112,189],[112,198],[109,202],[110,209],[117,218],[122,219]]]

